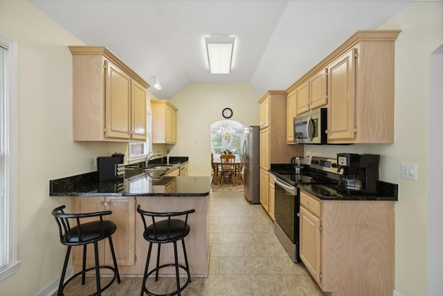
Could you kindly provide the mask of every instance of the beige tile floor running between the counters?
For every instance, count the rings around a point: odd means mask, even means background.
[[[291,261],[273,234],[273,223],[262,206],[248,204],[242,192],[211,193],[208,232],[209,275],[192,278],[181,295],[325,295],[305,266]],[[159,287],[154,293],[169,293],[175,285],[171,278],[148,281]],[[94,285],[94,278],[89,278],[83,287],[73,281],[66,287],[65,295],[83,295],[82,290],[93,291]],[[121,284],[114,282],[102,295],[140,293],[141,278],[123,277]]]

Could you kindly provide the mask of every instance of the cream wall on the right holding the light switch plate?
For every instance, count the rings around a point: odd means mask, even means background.
[[[442,1],[416,2],[379,28],[401,30],[395,42],[395,143],[305,146],[305,155],[335,157],[341,152],[381,155],[381,180],[399,184],[395,207],[395,290],[402,296],[428,295],[428,163],[434,162],[428,157],[429,61],[431,53],[443,44],[442,12]],[[441,99],[441,96],[434,98],[440,103]],[[440,123],[441,116],[440,112]],[[441,124],[434,132],[433,138],[442,139]],[[439,151],[441,155],[442,150]],[[401,163],[417,164],[417,181],[400,178]],[[441,165],[440,162],[440,172]],[[441,189],[441,179],[439,182],[437,186]],[[441,194],[438,198],[441,199]],[[441,210],[438,211],[441,216]],[[442,235],[442,225],[438,228]],[[435,276],[441,281],[441,273]]]

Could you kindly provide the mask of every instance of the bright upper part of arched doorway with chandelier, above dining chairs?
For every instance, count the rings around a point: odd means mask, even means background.
[[[233,120],[210,125],[210,150],[218,158],[225,150],[240,158],[244,142],[244,124]]]

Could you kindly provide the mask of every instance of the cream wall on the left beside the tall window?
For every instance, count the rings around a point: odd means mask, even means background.
[[[72,141],[72,56],[84,45],[24,0],[0,0],[0,33],[18,43],[18,272],[0,295],[35,295],[60,277],[66,247],[51,210],[71,198],[50,197],[49,180],[96,171],[95,156],[126,144]],[[26,284],[24,284],[26,283]]]

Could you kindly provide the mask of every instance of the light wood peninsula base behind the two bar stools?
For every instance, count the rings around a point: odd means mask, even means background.
[[[113,200],[120,198],[127,200],[129,197],[113,197]],[[195,209],[195,213],[188,217],[188,224],[190,225],[190,234],[186,236],[186,252],[188,254],[190,274],[192,277],[208,277],[208,262],[209,262],[209,245],[207,238],[207,203],[208,195],[205,196],[137,196],[129,198],[134,200],[129,209],[125,209],[121,213],[113,211],[113,216],[122,214],[120,217],[115,217],[117,220],[116,234],[125,234],[120,236],[122,241],[114,241],[116,247],[118,270],[122,276],[143,277],[145,271],[145,264],[147,259],[147,250],[149,243],[143,238],[144,226],[141,217],[136,213],[137,204],[141,205],[142,209],[155,212],[169,212],[169,211],[184,211],[188,209]],[[78,208],[86,212],[84,207],[79,207],[82,202],[92,202],[91,197],[74,197],[73,209]],[[97,201],[97,203],[99,203]],[[113,202],[109,203],[111,210]],[[129,212],[128,212],[129,210]],[[133,214],[134,213],[134,214]],[[147,221],[147,223],[149,223]],[[116,236],[119,237],[119,236]],[[121,248],[123,250],[118,250]],[[133,251],[132,251],[132,250]],[[178,250],[179,263],[184,262],[183,250]],[[73,248],[73,268],[74,272],[78,272],[82,268],[82,249],[74,250]],[[76,251],[76,252],[75,252]],[[152,247],[152,254],[156,254],[156,244]],[[89,253],[91,250],[89,250]],[[124,254],[119,258],[118,254]],[[134,254],[134,260],[127,260],[127,254]],[[105,258],[100,258],[100,264],[106,261]],[[174,248],[173,245],[167,244],[161,247],[160,264],[174,262]],[[87,259],[87,265],[93,264],[93,261]],[[149,268],[155,267],[156,262],[151,260]],[[186,272],[181,271],[183,276]],[[162,268],[159,275],[162,277],[170,277],[175,275],[174,268]]]

